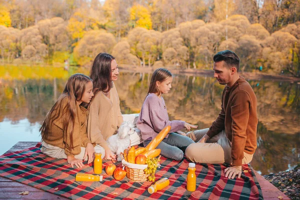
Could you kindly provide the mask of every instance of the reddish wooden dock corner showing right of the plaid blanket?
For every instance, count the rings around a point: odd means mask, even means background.
[[[280,191],[277,187],[272,185],[269,181],[267,181],[263,176],[261,176],[259,173],[254,171],[257,181],[259,182],[259,185],[261,187],[261,192],[263,199],[276,199],[278,200],[278,196],[282,196],[284,200],[289,199],[282,191]]]

